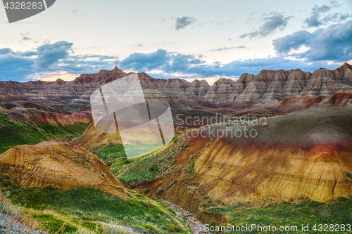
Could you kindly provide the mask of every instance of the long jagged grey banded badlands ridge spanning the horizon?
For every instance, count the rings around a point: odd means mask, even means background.
[[[130,73],[128,73],[130,74]],[[71,82],[0,82],[0,100],[37,101],[53,108],[74,111],[87,107],[92,92],[99,86],[125,77],[127,73],[115,67],[95,74],[81,74]],[[138,73],[146,97],[195,98],[200,105],[206,100],[222,107],[237,108],[238,103],[258,100],[282,100],[290,96],[329,96],[352,93],[352,65],[345,63],[335,70],[320,68],[315,72],[296,70],[262,70],[258,74],[244,73],[236,81],[219,79],[210,86],[206,81],[186,79],[155,79],[145,72]],[[17,94],[17,96],[15,96]],[[199,108],[199,107],[197,107]],[[206,106],[206,108],[213,108]]]

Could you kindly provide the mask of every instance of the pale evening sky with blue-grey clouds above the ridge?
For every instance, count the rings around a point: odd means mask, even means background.
[[[115,65],[156,78],[237,79],[352,59],[351,0],[57,0],[11,24],[0,6],[0,28],[0,81],[73,79]]]

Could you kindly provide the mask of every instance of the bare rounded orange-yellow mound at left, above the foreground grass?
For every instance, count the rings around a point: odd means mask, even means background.
[[[44,141],[15,146],[0,155],[1,173],[22,186],[89,186],[127,197],[120,181],[95,155],[72,143]]]

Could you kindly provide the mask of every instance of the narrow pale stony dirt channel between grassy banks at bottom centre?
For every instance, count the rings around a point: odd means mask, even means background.
[[[210,232],[207,232],[204,229],[204,223],[201,223],[201,221],[196,219],[196,214],[194,214],[194,212],[191,212],[188,209],[183,209],[178,204],[172,202],[168,202],[165,200],[161,200],[161,202],[163,202],[163,204],[166,204],[168,207],[174,209],[177,216],[179,216],[181,219],[186,220],[194,234],[210,234]]]

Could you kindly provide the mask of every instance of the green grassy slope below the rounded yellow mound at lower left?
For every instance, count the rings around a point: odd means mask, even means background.
[[[191,233],[187,223],[164,204],[131,190],[127,195],[132,199],[122,200],[94,188],[61,191],[13,186],[9,198],[46,223],[50,233],[55,233],[63,223],[63,233],[69,233],[77,230],[79,223],[81,227],[92,229],[99,222],[119,223],[142,233]]]

